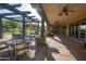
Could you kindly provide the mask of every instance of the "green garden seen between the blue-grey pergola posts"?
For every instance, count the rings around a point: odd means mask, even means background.
[[[22,34],[22,23],[3,20],[3,35]],[[37,30],[37,24],[27,23],[26,24],[26,35],[34,35]]]

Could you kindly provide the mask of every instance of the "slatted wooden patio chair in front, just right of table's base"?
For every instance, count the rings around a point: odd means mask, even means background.
[[[15,56],[16,56],[16,60],[24,60],[25,55],[27,55],[27,52],[28,52],[28,42],[27,41],[22,41],[20,43],[16,44],[16,48],[15,48]]]

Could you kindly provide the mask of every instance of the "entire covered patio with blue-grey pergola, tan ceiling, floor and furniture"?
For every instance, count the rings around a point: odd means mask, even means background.
[[[0,3],[0,61],[85,61],[86,4],[71,4],[74,14],[69,5]],[[21,33],[4,36],[4,20],[21,23]],[[33,35],[26,34],[29,23],[36,25]]]

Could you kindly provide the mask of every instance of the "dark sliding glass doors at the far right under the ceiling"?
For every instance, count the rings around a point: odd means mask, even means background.
[[[86,21],[70,24],[70,36],[75,39],[86,39]]]

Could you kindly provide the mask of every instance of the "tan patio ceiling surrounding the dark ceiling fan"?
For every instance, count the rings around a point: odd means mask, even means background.
[[[85,3],[70,3],[69,9],[74,10],[75,12],[69,12],[69,15],[59,15],[65,4],[66,3],[41,3],[46,16],[51,25],[63,25],[65,23],[86,18]]]

